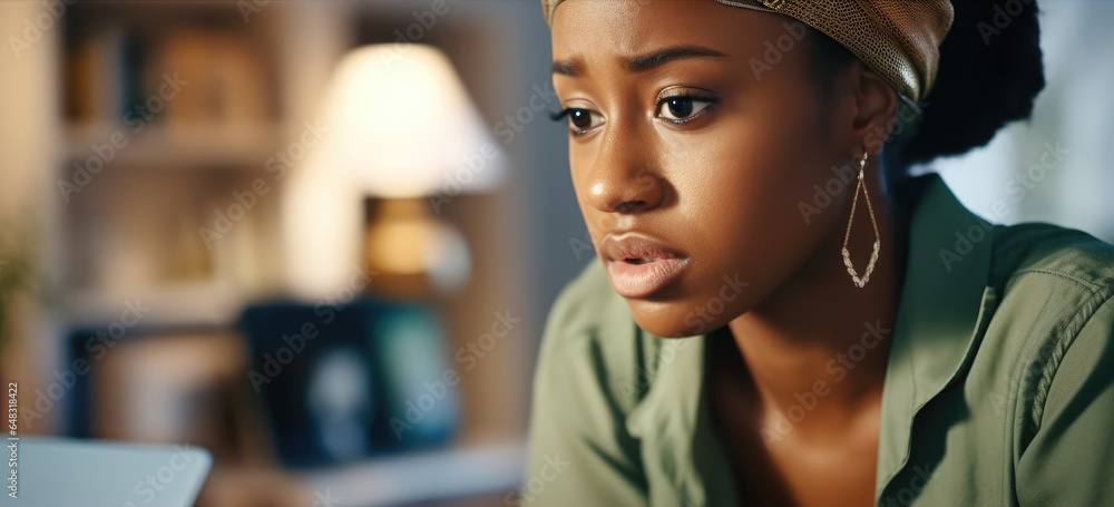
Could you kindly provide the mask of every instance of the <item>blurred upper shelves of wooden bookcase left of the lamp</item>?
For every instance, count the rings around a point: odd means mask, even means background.
[[[63,305],[111,322],[127,294],[182,325],[229,324],[280,283],[277,195],[253,196],[236,234],[203,227],[290,143],[276,43],[283,9],[245,22],[231,2],[79,2],[63,23]],[[295,133],[296,135],[296,133]],[[270,262],[268,262],[270,261]],[[121,298],[123,296],[123,298]]]

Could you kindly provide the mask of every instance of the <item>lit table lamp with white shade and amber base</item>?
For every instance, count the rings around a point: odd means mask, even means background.
[[[375,205],[365,237],[372,291],[451,293],[470,255],[437,214],[461,193],[496,189],[506,155],[449,59],[426,45],[373,45],[345,55],[324,101],[322,154]]]

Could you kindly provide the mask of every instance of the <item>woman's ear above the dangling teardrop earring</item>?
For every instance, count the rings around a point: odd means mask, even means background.
[[[852,92],[856,114],[849,147],[853,156],[861,155],[863,146],[872,155],[878,155],[889,139],[897,123],[898,94],[886,79],[861,62],[852,71]]]

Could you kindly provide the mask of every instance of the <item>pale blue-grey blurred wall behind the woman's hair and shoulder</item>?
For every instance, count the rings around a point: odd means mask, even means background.
[[[928,168],[991,222],[1051,222],[1114,242],[1114,2],[1038,4],[1047,86],[1033,119]]]

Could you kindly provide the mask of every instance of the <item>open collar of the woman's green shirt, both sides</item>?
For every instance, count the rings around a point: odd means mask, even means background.
[[[937,174],[906,184],[920,193],[883,386],[876,499],[909,460],[917,411],[962,369],[995,303],[988,286],[993,226],[968,211]],[[631,435],[656,452],[644,455],[644,466],[653,469],[647,474],[671,482],[651,485],[652,505],[658,504],[655,497],[707,505],[734,496],[729,461],[706,410],[705,339],[652,341],[668,360],[658,364],[654,388],[627,418]],[[695,468],[681,466],[685,462]]]

